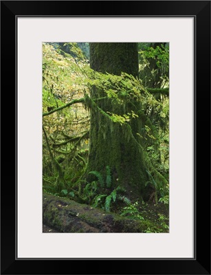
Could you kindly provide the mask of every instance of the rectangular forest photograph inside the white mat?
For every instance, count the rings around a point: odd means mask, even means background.
[[[43,232],[169,233],[169,43],[42,47]]]

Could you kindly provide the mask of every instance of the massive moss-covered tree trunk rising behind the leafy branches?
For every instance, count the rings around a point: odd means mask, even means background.
[[[137,43],[90,43],[90,66],[97,72],[120,75],[121,72],[138,75]],[[106,96],[93,87],[91,98]],[[113,104],[111,99],[99,100],[98,107],[123,115],[133,110],[138,113],[141,102]],[[128,191],[130,198],[142,197],[147,181],[144,153],[137,133],[142,127],[140,118],[119,124],[111,122],[102,112],[91,109],[89,160],[87,173],[96,170],[105,175],[109,166],[116,186]]]

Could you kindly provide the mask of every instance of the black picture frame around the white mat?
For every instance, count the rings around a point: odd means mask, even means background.
[[[195,18],[193,259],[16,259],[16,18],[19,16]],[[1,274],[210,274],[210,1],[1,1],[1,115]]]

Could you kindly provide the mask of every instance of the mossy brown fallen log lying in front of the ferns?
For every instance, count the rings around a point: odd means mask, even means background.
[[[151,221],[126,219],[87,204],[43,193],[43,224],[58,232],[146,232]]]

